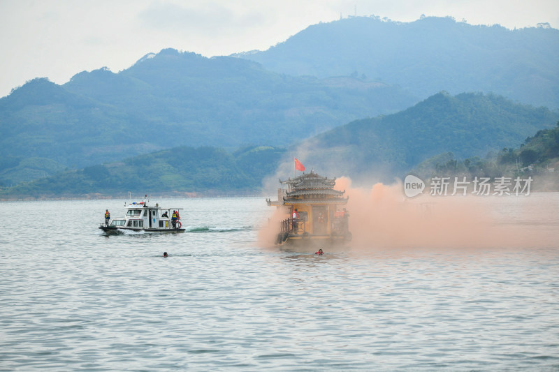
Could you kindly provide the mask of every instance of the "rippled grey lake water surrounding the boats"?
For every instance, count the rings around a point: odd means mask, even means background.
[[[187,232],[107,237],[119,200],[0,203],[1,371],[559,369],[559,239],[315,256],[259,247],[264,198],[157,202]]]

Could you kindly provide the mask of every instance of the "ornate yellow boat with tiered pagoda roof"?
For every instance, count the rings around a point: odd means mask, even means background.
[[[266,202],[289,217],[281,221],[275,244],[331,246],[351,240],[348,198],[334,190],[335,179],[310,172],[279,183],[277,200]]]

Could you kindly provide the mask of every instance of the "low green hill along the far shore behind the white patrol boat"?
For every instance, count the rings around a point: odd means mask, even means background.
[[[55,176],[0,189],[0,200],[157,195],[245,195],[259,193],[285,149],[242,147],[232,153],[217,147],[175,147],[124,161],[66,170]]]

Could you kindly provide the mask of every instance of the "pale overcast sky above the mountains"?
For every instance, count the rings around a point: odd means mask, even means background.
[[[166,47],[205,57],[266,50],[349,15],[412,22],[451,16],[509,29],[548,22],[559,0],[0,0],[0,97],[35,77],[117,73]]]

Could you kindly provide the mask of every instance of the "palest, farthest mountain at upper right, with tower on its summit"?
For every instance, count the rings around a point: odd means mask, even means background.
[[[314,24],[266,51],[235,54],[289,75],[366,77],[421,98],[483,91],[559,107],[559,30],[474,26],[451,17]]]

